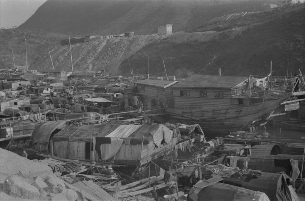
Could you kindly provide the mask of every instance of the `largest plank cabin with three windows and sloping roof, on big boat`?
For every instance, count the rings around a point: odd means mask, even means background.
[[[239,104],[232,97],[246,92],[248,77],[193,75],[173,86],[174,108],[199,109]]]

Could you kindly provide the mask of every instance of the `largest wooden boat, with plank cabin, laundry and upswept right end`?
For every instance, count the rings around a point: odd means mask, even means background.
[[[270,80],[270,76],[193,75],[164,86],[145,80],[145,83],[138,83],[137,90],[139,96],[145,98],[145,93],[152,96],[153,92],[146,92],[146,88],[171,88],[172,95],[166,95],[163,101],[168,106],[165,113],[155,118],[160,123],[199,124],[205,133],[229,133],[246,127],[251,130],[253,124],[264,125],[278,115],[274,113],[275,109],[292,93],[285,91],[287,84],[285,87],[274,78],[272,82]],[[160,97],[162,90],[155,91]]]

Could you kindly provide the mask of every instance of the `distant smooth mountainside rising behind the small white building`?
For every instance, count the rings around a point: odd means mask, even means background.
[[[166,23],[174,32],[187,31],[214,17],[264,9],[259,0],[48,0],[19,28],[74,36],[141,35],[157,33]]]

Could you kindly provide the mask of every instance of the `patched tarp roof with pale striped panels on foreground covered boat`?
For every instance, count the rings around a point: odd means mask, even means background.
[[[53,141],[91,141],[95,143],[95,150],[99,157],[108,160],[113,157],[123,142],[125,144],[141,144],[153,142],[160,146],[161,141],[171,143],[173,132],[164,125],[83,125],[70,126],[53,136]],[[133,142],[133,143],[131,143]]]

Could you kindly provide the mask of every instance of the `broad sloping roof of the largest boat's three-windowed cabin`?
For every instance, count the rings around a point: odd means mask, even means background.
[[[229,88],[247,80],[248,77],[218,76],[218,75],[192,75],[180,81],[173,87],[200,87],[200,88]]]

